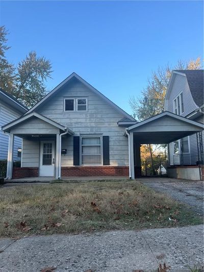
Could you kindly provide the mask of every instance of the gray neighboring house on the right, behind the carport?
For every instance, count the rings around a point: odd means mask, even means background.
[[[203,70],[172,71],[165,110],[203,123],[203,79]],[[168,146],[171,165],[168,174],[171,172],[173,177],[199,179],[203,144],[203,132],[171,142]]]

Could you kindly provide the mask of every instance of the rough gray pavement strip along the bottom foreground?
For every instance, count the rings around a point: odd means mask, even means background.
[[[0,250],[1,272],[147,272],[160,262],[187,272],[203,265],[203,226],[0,239]]]

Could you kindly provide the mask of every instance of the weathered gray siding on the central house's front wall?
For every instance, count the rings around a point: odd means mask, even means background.
[[[88,111],[64,112],[64,97],[80,96],[88,98]],[[69,84],[37,112],[68,127],[75,135],[80,133],[108,135],[110,164],[128,165],[128,140],[122,135],[124,128],[117,125],[124,116],[82,83],[75,81]],[[67,149],[67,155],[62,155],[62,166],[73,165],[73,137],[63,138],[62,148]]]

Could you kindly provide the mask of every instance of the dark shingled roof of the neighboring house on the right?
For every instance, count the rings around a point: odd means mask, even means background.
[[[203,105],[203,81],[204,70],[174,70],[186,75],[191,95],[195,104],[200,107]]]

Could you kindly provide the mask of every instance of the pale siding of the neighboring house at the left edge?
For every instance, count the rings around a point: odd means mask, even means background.
[[[8,105],[0,102],[0,128],[7,123],[15,120],[21,114],[19,114],[15,109],[10,108]],[[8,157],[8,140],[9,137],[0,130],[0,160],[7,159]],[[13,149],[13,160],[20,160],[17,156],[18,147],[21,147],[21,139],[19,137],[14,137],[14,149]]]

